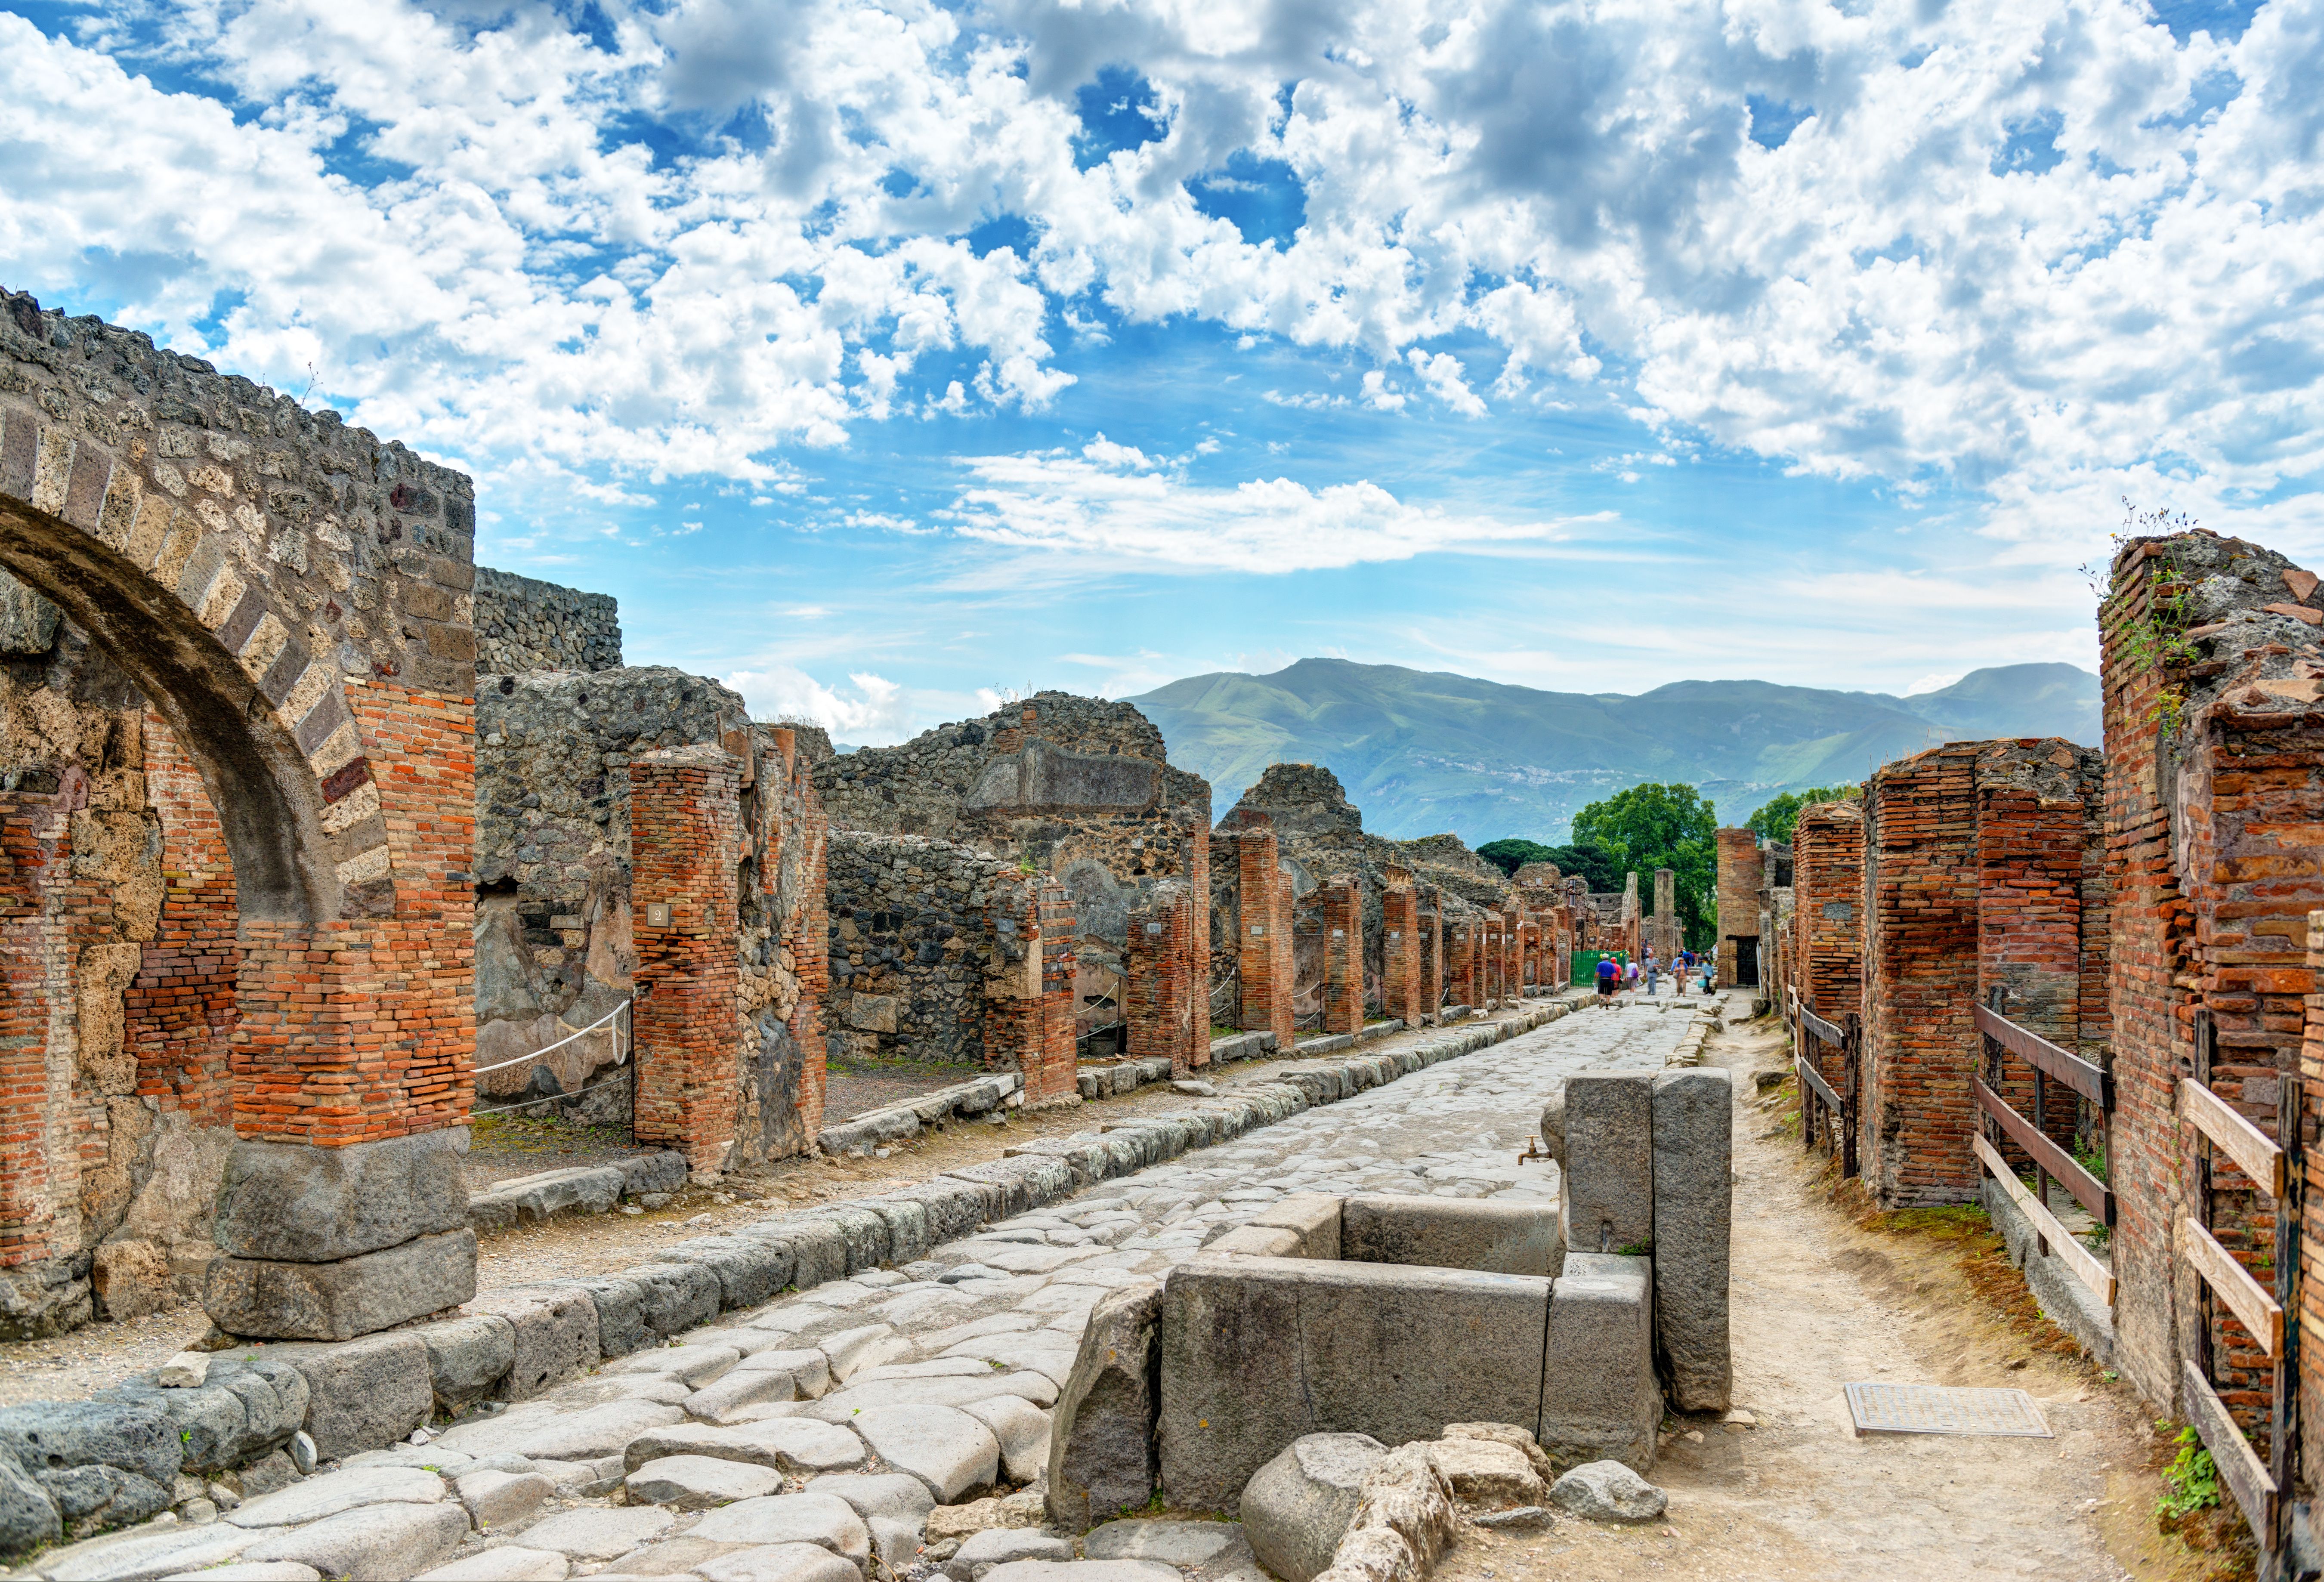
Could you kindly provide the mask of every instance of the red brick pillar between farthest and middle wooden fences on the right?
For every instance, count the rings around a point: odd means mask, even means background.
[[[1934,748],[1873,771],[1864,792],[1864,1175],[1882,1208],[1978,1194],[1975,755]]]

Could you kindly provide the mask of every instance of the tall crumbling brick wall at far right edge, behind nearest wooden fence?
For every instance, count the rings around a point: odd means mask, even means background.
[[[2117,1117],[2113,1185],[2117,1357],[2157,1403],[2178,1398],[2196,1352],[2196,1278],[2178,1257],[2194,1208],[2194,1131],[2178,1080],[2194,1071],[2194,1020],[2217,1031],[2212,1092],[2278,1136],[2282,1076],[2301,1069],[2303,999],[2315,971],[2305,913],[2324,904],[2324,646],[2317,578],[2282,555],[2185,532],[2133,539],[2099,613],[2106,688],[2108,873],[2115,948]],[[2319,1113],[2310,1090],[2310,1117]],[[2315,1122],[2310,1122],[2315,1124]],[[2315,1187],[2310,1150],[2308,1203]],[[2217,1238],[2271,1282],[2275,1203],[2217,1166]],[[2324,1224],[2308,1210],[2305,1236]],[[2308,1322],[2317,1282],[2303,1282]],[[2266,1359],[2215,1313],[2222,1401],[2266,1422]],[[2303,1347],[2303,1394],[2319,1403],[2319,1354]],[[2317,1422],[2317,1417],[2308,1417]]]

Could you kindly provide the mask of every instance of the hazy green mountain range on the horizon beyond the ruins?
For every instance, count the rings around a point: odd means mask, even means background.
[[[2099,678],[2003,664],[1938,692],[1834,692],[1676,681],[1652,692],[1543,692],[1397,664],[1299,660],[1271,676],[1213,671],[1127,699],[1225,813],[1267,764],[1332,769],[1392,839],[1559,846],[1573,815],[1641,781],[1683,781],[1741,825],[1787,790],[1862,781],[1945,741],[2066,736],[2099,746]]]

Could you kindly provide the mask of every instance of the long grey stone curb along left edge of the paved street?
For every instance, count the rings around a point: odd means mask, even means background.
[[[218,1473],[251,1466],[302,1431],[323,1459],[383,1450],[409,1438],[437,1410],[460,1412],[483,1398],[530,1401],[600,1361],[660,1345],[723,1310],[755,1308],[783,1289],[809,1289],[881,1264],[909,1264],[992,1220],[1473,1055],[1576,1008],[1559,1001],[1408,1050],[1304,1062],[1278,1080],[1202,1101],[1192,1110],[1139,1115],[1106,1124],[1097,1136],[1041,1138],[1002,1159],[944,1171],[874,1199],[697,1236],[658,1247],[653,1264],[621,1273],[479,1292],[462,1317],[344,1343],[232,1347],[216,1354],[207,1380],[195,1387],[163,1389],[158,1373],[144,1373],[88,1401],[0,1408],[0,1457],[44,1431],[42,1443],[74,1443],[79,1466],[112,1466],[107,1452],[119,1457],[132,1447],[135,1466],[123,1470],[144,1475],[160,1491],[181,1468]],[[541,1201],[548,1196],[544,1189]],[[256,1410],[251,1401],[263,1401],[267,1410]],[[123,1515],[135,1522],[153,1512]]]

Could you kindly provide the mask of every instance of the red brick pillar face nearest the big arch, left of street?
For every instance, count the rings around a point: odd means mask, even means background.
[[[720,1173],[734,1141],[739,862],[741,767],[725,748],[665,748],[630,762],[637,936],[630,1129],[639,1143],[683,1152],[697,1175]]]

